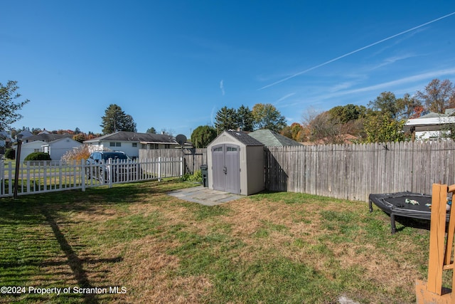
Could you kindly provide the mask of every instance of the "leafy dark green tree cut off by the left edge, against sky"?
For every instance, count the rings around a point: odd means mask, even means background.
[[[18,110],[30,102],[28,99],[15,101],[21,97],[21,94],[16,93],[18,88],[17,81],[9,80],[6,85],[0,83],[0,131],[8,129],[11,124],[20,120],[22,115]]]

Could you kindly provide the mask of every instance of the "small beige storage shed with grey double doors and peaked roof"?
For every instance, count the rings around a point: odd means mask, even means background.
[[[245,132],[224,131],[207,152],[210,189],[242,195],[264,190],[264,144]]]

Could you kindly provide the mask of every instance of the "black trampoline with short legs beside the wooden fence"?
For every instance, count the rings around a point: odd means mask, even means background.
[[[432,216],[432,196],[412,192],[397,192],[387,194],[370,194],[368,196],[370,212],[373,212],[373,205],[378,206],[382,211],[390,214],[390,225],[392,234],[397,231],[395,227],[395,216],[405,216],[412,219],[427,219]],[[446,221],[449,221],[450,212],[446,214]]]

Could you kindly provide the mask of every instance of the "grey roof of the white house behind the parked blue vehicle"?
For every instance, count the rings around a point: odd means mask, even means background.
[[[144,143],[163,143],[176,145],[175,138],[165,134],[137,133],[127,131],[117,131],[103,135],[92,140],[85,140],[84,143],[95,142],[144,142]]]

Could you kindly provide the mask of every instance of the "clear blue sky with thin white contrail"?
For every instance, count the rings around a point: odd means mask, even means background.
[[[223,106],[271,103],[290,125],[455,83],[453,0],[0,4],[0,83],[31,100],[13,127],[101,132],[115,103],[138,132],[189,137]]]

